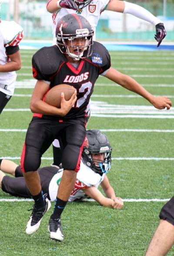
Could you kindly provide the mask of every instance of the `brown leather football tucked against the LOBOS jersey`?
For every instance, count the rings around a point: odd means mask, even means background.
[[[60,108],[61,92],[64,92],[65,100],[69,100],[76,89],[72,85],[60,84],[51,88],[45,97],[45,102],[51,106]]]

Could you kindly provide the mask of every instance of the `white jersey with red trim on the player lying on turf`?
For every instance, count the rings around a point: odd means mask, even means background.
[[[49,195],[50,195],[51,201],[56,200],[57,189],[58,189],[58,185],[61,180],[62,174],[63,174],[63,171],[58,172],[52,177],[50,181]],[[80,170],[77,172],[77,180],[68,201],[73,202],[78,199],[85,198],[86,195],[83,189],[90,188],[91,186],[95,186],[96,188],[98,188],[100,183],[104,180],[105,175],[106,174],[103,174],[102,176],[100,176],[100,174],[95,173],[93,170],[87,167],[81,160]]]

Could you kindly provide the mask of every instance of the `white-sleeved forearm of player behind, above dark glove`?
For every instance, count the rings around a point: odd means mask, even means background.
[[[151,24],[154,24],[154,26],[158,23],[161,23],[161,20],[159,20],[157,17],[155,17],[153,14],[151,14],[148,10],[144,9],[143,7],[134,3],[128,3],[126,1],[124,1],[124,3],[124,14],[132,14],[135,17],[140,18],[141,20],[146,20]]]

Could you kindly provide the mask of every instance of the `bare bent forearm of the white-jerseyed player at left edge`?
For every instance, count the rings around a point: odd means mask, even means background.
[[[0,65],[0,72],[11,72],[16,71],[21,68],[21,58],[20,51],[15,52],[12,55],[9,55],[10,61],[4,65]]]

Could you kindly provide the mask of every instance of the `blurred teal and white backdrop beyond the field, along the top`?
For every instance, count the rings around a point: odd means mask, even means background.
[[[174,41],[174,0],[129,0],[159,17],[165,24],[165,41]],[[4,0],[1,19],[15,20],[25,31],[25,39],[51,39],[51,14],[47,0]],[[129,14],[104,11],[97,26],[98,40],[152,41],[154,26]]]

